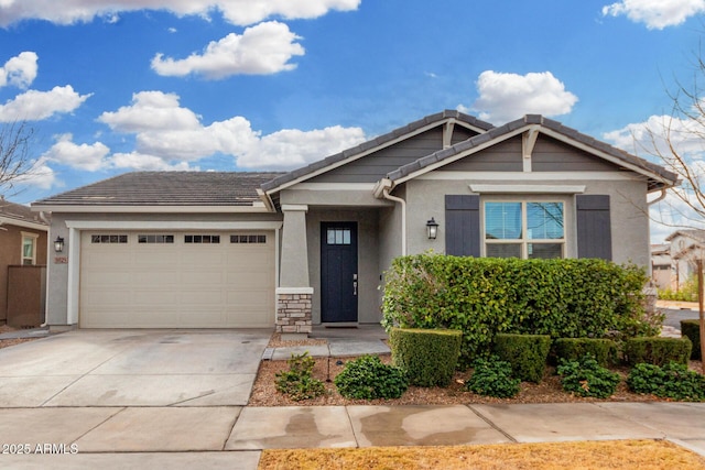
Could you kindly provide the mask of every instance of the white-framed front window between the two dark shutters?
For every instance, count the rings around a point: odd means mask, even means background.
[[[563,203],[485,203],[486,256],[563,258],[564,247]]]

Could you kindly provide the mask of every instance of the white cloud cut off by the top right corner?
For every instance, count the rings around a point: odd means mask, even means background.
[[[603,7],[603,15],[626,14],[631,21],[644,23],[649,30],[676,26],[704,11],[705,0],[622,0]]]

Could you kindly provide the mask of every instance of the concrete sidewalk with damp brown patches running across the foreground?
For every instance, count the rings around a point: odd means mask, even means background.
[[[705,456],[705,404],[0,409],[0,444],[33,453],[0,455],[2,468],[256,469],[272,448],[610,439],[669,439]]]

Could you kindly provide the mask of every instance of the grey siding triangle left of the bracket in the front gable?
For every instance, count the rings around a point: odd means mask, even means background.
[[[437,168],[437,172],[521,172],[521,136],[508,139]]]

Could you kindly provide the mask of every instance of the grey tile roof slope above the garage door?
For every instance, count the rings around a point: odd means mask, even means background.
[[[134,172],[104,179],[33,206],[251,206],[262,183],[283,173]]]

